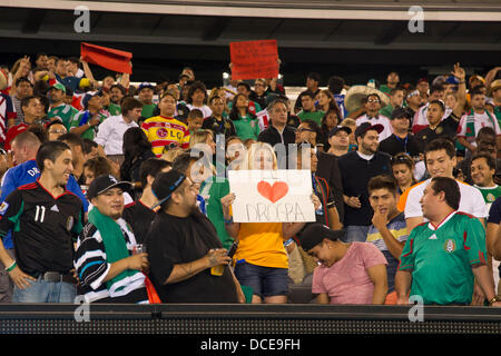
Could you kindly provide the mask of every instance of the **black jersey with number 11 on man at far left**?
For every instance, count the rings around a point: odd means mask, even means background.
[[[12,229],[16,260],[30,276],[73,269],[73,240],[82,230],[84,208],[70,191],[53,197],[40,182],[12,191],[0,207],[0,236]]]

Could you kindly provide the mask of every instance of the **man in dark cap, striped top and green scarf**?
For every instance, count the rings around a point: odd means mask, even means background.
[[[149,268],[148,255],[135,251],[136,238],[121,217],[124,190],[130,185],[114,176],[100,176],[87,191],[94,208],[75,255],[78,294],[87,303],[148,303],[141,273]]]

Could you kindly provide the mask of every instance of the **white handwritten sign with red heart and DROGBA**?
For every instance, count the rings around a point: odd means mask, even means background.
[[[310,170],[228,170],[235,222],[315,221]]]

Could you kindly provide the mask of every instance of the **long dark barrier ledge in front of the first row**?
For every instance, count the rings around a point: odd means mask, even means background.
[[[501,334],[501,308],[322,305],[0,305],[0,334]]]

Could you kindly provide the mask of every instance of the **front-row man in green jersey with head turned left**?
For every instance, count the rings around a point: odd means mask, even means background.
[[[477,283],[491,306],[501,306],[487,266],[485,230],[479,219],[458,211],[461,194],[452,178],[435,177],[421,206],[430,221],[416,226],[400,257],[397,304],[421,296],[426,305],[470,305]]]

